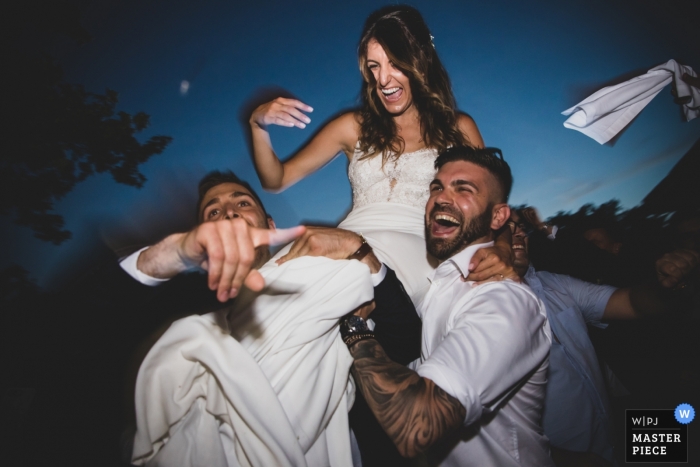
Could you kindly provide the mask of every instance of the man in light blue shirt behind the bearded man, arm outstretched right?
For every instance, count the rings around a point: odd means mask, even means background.
[[[513,211],[513,265],[542,300],[552,330],[549,376],[544,404],[544,433],[559,465],[612,465],[611,409],[605,381],[587,325],[627,320],[668,311],[672,289],[696,268],[700,255],[680,249],[656,261],[658,281],[615,288],[561,274],[537,271],[529,257],[528,222]],[[601,458],[606,463],[601,463]],[[610,464],[608,464],[610,463]]]

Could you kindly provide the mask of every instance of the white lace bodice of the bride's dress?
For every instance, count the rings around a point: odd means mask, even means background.
[[[435,177],[435,149],[404,153],[384,167],[381,156],[359,160],[362,154],[356,149],[348,166],[353,209],[382,202],[425,208],[428,186]]]

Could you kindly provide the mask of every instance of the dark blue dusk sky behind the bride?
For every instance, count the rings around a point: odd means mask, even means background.
[[[119,109],[151,115],[148,135],[174,138],[142,167],[135,189],[95,176],[56,208],[73,239],[56,247],[2,219],[14,261],[42,285],[91,245],[153,241],[193,220],[197,180],[232,169],[259,187],[241,114],[265,89],[282,88],[314,107],[305,130],[275,128],[278,154],[298,148],[357,102],[356,46],[376,1],[96,1],[85,10],[93,40],[56,44],[69,82],[117,90]],[[670,88],[614,145],[563,127],[561,112],[600,87],[674,58],[700,70],[692,1],[412,1],[425,16],[459,107],[515,176],[512,202],[545,215],[584,203],[638,204],[700,136]],[[687,13],[687,14],[686,14]],[[695,28],[694,30],[692,28]],[[181,82],[190,83],[186,94]],[[278,225],[335,223],[351,207],[344,157],[282,194],[263,194]]]

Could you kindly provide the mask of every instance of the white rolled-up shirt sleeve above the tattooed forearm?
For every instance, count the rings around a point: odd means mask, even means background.
[[[544,360],[551,337],[539,300],[520,284],[484,284],[466,295],[416,371],[459,400],[470,425]]]

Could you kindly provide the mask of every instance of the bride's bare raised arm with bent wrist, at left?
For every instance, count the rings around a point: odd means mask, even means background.
[[[281,162],[272,148],[268,125],[306,128],[313,109],[296,99],[278,97],[256,108],[250,116],[253,160],[260,183],[268,191],[282,191],[323,167],[340,151],[349,157],[359,134],[352,112],[332,120],[291,158]]]

